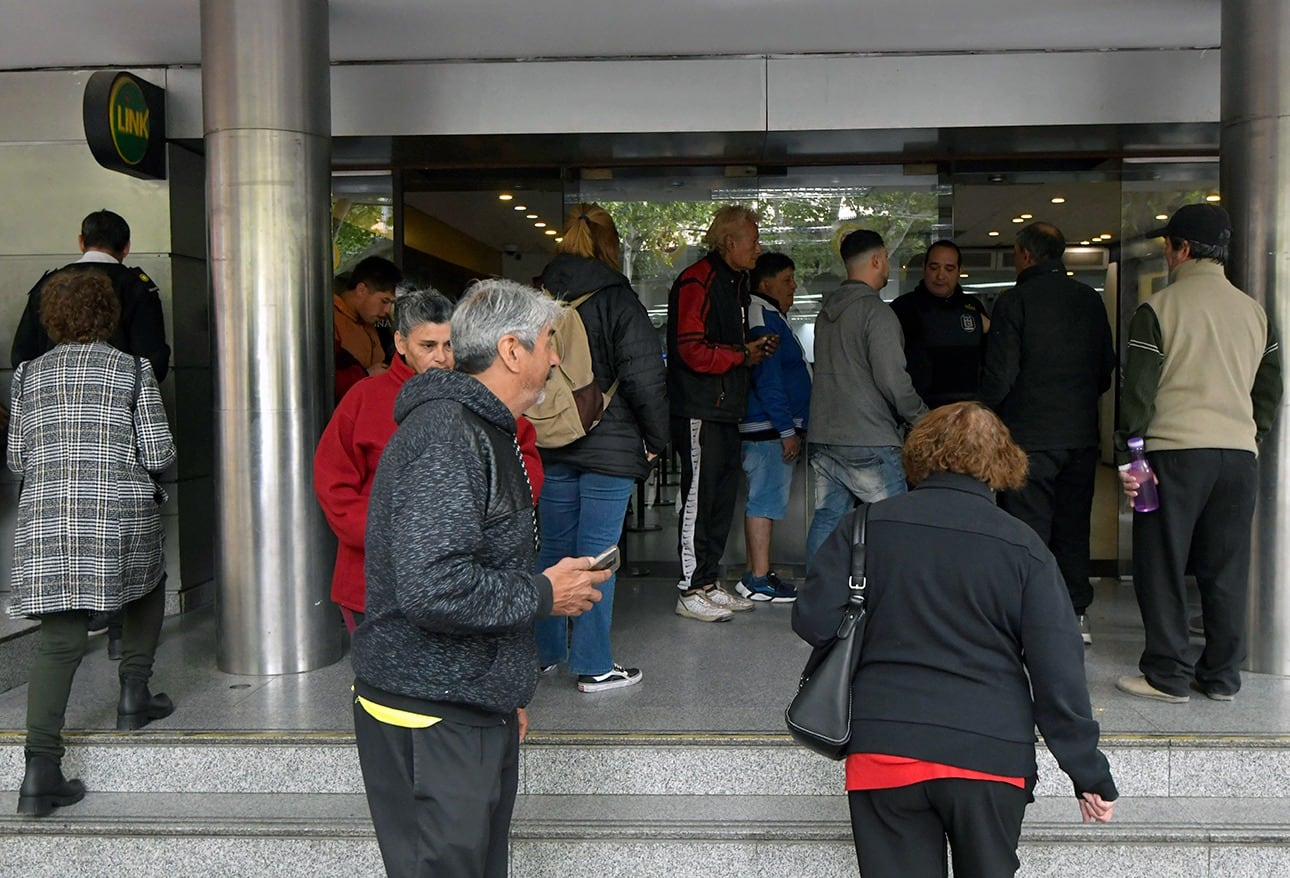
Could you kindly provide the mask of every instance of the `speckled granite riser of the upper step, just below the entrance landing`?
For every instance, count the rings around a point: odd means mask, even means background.
[[[22,735],[0,732],[0,790],[22,779]],[[72,732],[64,768],[121,793],[361,793],[347,732]],[[1133,798],[1290,797],[1290,737],[1108,735]],[[539,734],[521,749],[530,795],[832,795],[841,766],[787,735]],[[1040,748],[1037,797],[1069,783]]]

